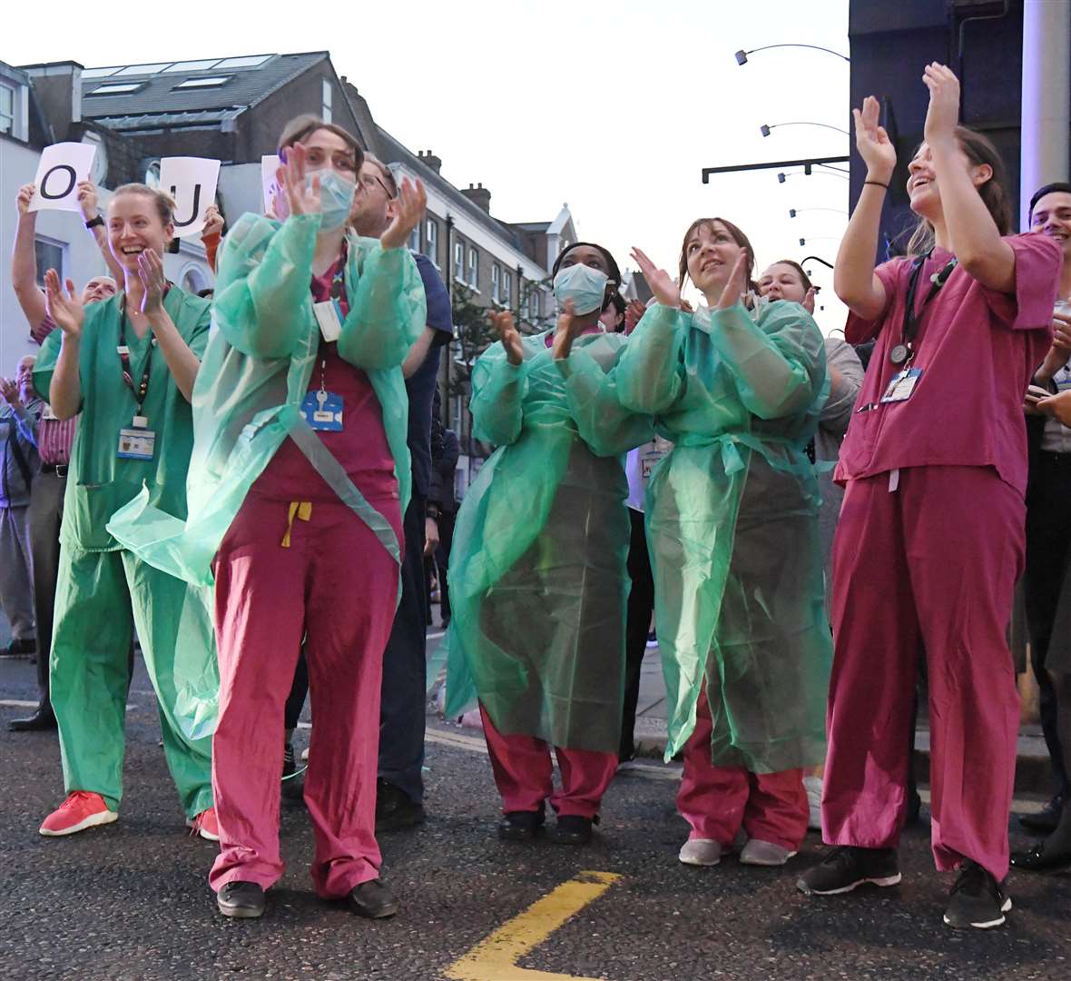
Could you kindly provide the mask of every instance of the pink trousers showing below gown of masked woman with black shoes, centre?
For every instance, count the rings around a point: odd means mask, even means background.
[[[603,794],[617,772],[616,753],[555,746],[561,771],[561,788],[555,790],[550,747],[534,735],[503,735],[482,704],[480,715],[503,813],[542,811],[549,798],[559,816],[593,818],[599,814]]]

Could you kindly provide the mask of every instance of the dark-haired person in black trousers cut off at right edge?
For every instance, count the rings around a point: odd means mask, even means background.
[[[1049,747],[1055,792],[1040,814],[1022,815],[1028,831],[1047,835],[1011,864],[1044,872],[1071,864],[1071,428],[1057,406],[1071,392],[1071,183],[1046,184],[1030,199],[1030,227],[1059,244],[1064,263],[1053,312],[1052,347],[1027,393],[1029,478],[1026,487],[1026,571],[1022,588],[1030,664],[1040,694],[1041,728]],[[1044,392],[1047,398],[1039,398]]]

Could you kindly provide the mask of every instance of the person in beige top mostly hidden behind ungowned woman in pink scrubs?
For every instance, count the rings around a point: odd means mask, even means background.
[[[759,296],[768,300],[789,300],[799,303],[814,316],[814,299],[817,291],[799,263],[790,258],[775,262],[758,278]],[[827,337],[826,370],[829,374],[829,398],[818,417],[818,429],[814,434],[813,456],[819,466],[818,488],[821,491],[821,507],[818,509],[818,535],[821,539],[821,565],[826,577],[826,612],[829,612],[832,581],[831,566],[833,553],[833,532],[841,512],[844,491],[833,480],[829,464],[835,463],[841,455],[841,443],[848,431],[851,411],[863,384],[863,366],[855,348],[842,338]],[[808,827],[821,830],[821,767],[803,777],[806,788],[809,819]]]

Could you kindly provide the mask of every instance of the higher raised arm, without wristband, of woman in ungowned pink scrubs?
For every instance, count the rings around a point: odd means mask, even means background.
[[[960,119],[960,80],[951,69],[936,61],[926,65],[922,80],[930,89],[924,135],[940,188],[949,249],[960,265],[983,286],[1013,293],[1015,253],[1001,238],[978,193],[979,184],[976,184],[976,181],[992,179],[993,170],[989,165],[965,168],[955,137]]]

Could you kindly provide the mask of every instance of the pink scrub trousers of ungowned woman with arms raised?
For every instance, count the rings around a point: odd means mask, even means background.
[[[894,848],[906,807],[920,642],[930,683],[933,852],[1008,874],[1019,693],[1006,630],[1022,494],[991,466],[849,480],[833,544],[833,671],[823,837]]]

